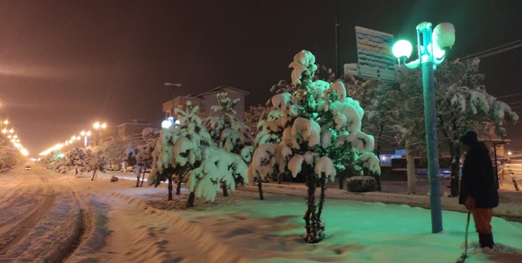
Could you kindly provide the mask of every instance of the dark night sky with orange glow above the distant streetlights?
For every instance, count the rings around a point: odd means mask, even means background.
[[[339,58],[357,62],[355,26],[415,42],[419,22],[452,22],[448,60],[522,39],[522,1],[338,1]],[[145,119],[162,102],[227,85],[263,104],[301,49],[336,67],[336,1],[0,0],[0,117],[32,156],[88,129]],[[522,93],[522,48],[483,58],[491,95]],[[504,97],[521,102],[522,95]],[[522,116],[522,104],[512,104]],[[363,105],[364,107],[364,105]],[[11,124],[10,124],[11,125]],[[522,125],[509,128],[522,148]]]

